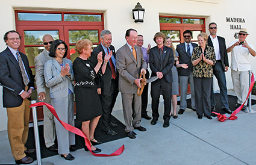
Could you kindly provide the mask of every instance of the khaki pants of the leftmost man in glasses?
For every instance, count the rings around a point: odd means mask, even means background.
[[[28,122],[30,120],[30,101],[23,100],[22,105],[14,108],[7,108],[8,116],[8,138],[11,152],[15,160],[26,156],[25,144],[28,139]]]

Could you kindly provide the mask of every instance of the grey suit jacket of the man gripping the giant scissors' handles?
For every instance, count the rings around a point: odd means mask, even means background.
[[[143,57],[142,48],[139,46],[134,46],[134,48],[137,61],[127,43],[116,52],[116,68],[119,72],[119,91],[121,93],[136,93],[137,85],[134,81],[139,78],[142,68],[146,70],[146,61]]]

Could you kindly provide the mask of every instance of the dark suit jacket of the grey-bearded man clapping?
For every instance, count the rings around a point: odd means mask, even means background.
[[[114,50],[114,46],[110,45],[110,50],[112,51],[114,58],[116,58],[116,51]],[[105,52],[104,52],[104,49],[102,48],[101,44],[99,46],[97,46],[95,49],[93,49],[93,52],[91,54],[90,60],[92,61],[94,67],[98,63],[97,55],[99,52],[102,52],[102,60],[104,61]],[[102,65],[103,65],[103,63],[102,63]],[[102,67],[102,65],[101,65],[101,67]],[[97,84],[97,88],[101,88],[101,93],[102,93],[101,95],[109,93],[110,89],[111,89],[111,78],[112,78],[110,63],[107,64],[104,75],[102,75],[99,72],[97,75],[98,76],[96,78],[96,84]],[[119,74],[116,70],[116,79],[115,79],[116,84],[118,83],[118,78],[119,78]],[[118,86],[118,84],[117,84],[117,86]]]

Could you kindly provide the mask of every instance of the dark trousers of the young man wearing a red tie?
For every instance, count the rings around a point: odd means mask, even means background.
[[[168,83],[163,77],[157,79],[157,81],[151,84],[151,98],[152,98],[152,117],[153,119],[158,119],[158,107],[160,94],[163,95],[164,99],[164,121],[170,120],[170,110],[171,110],[171,98],[172,98],[172,83]]]

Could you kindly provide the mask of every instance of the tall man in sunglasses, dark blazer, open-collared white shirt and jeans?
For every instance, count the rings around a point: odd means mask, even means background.
[[[222,110],[231,114],[228,108],[228,90],[226,89],[226,75],[228,71],[228,53],[226,52],[226,42],[223,37],[217,36],[217,24],[211,22],[209,24],[210,36],[208,37],[208,45],[214,48],[216,55],[216,64],[213,66],[213,74],[217,78],[220,89],[220,101],[222,102]],[[213,93],[213,83],[211,83],[211,111],[215,111],[215,98]]]

